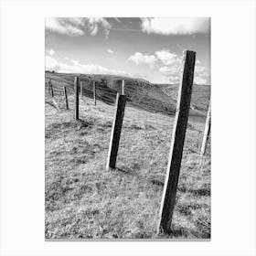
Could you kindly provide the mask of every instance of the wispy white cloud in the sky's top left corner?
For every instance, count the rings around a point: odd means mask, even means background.
[[[102,17],[48,17],[46,29],[51,32],[68,35],[71,37],[83,36],[89,33],[95,36],[100,29],[105,37],[109,37],[111,24]]]

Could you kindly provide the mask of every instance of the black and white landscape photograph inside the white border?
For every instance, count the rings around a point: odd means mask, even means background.
[[[45,18],[45,239],[210,240],[210,17]]]

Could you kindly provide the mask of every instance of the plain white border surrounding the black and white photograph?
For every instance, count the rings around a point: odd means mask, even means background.
[[[255,2],[1,2],[1,255],[255,255]],[[44,17],[211,16],[212,239],[44,240]]]

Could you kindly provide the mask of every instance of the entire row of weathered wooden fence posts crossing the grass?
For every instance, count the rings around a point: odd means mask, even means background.
[[[170,153],[168,157],[168,164],[165,175],[165,185],[163,190],[163,196],[161,200],[159,210],[159,223],[157,225],[157,233],[171,233],[171,224],[173,218],[173,212],[176,204],[176,190],[178,184],[178,178],[181,167],[181,160],[183,155],[183,146],[185,142],[187,120],[190,108],[193,80],[194,80],[194,69],[196,61],[196,52],[186,50],[184,52],[183,59],[183,75],[179,84],[179,91],[176,102],[176,116],[173,127]],[[79,86],[80,86],[80,98],[82,97],[82,84],[79,77],[74,80],[74,91],[75,91],[75,120],[79,120]],[[52,84],[48,87],[48,90],[53,98]],[[69,102],[67,96],[66,87],[64,87],[64,94],[66,99],[66,106],[69,109]],[[94,104],[96,105],[96,84],[93,81],[93,98]],[[109,152],[107,157],[106,170],[115,168],[116,159],[118,154],[118,147],[120,142],[120,136],[122,132],[123,115],[126,103],[126,96],[124,95],[124,80],[122,80],[121,93],[117,92],[114,116],[112,122],[111,140],[109,145]],[[205,132],[203,137],[203,143],[200,151],[200,157],[203,158],[208,142],[208,135],[210,132],[210,102],[208,107],[208,115],[205,126]]]

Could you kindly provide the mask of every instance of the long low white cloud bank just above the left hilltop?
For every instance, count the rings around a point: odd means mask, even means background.
[[[95,64],[81,64],[78,60],[69,59],[69,64],[63,63],[50,56],[46,56],[46,69],[55,70],[59,73],[81,73],[81,74],[111,74],[130,76],[123,70],[107,69]]]

